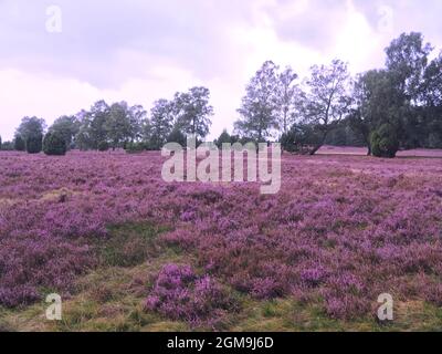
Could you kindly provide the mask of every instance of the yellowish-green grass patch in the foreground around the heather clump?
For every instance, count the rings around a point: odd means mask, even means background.
[[[98,267],[81,278],[63,301],[63,320],[45,320],[46,303],[15,310],[0,308],[0,331],[191,331],[146,311],[144,301],[154,275],[167,263],[196,264],[191,252],[161,246],[165,227],[128,223],[109,229],[110,237],[96,242]],[[421,301],[394,304],[394,321],[375,317],[337,321],[327,316],[320,299],[256,301],[236,293],[241,311],[225,316],[217,330],[257,332],[302,331],[442,331],[442,309]],[[197,329],[210,331],[212,329]]]

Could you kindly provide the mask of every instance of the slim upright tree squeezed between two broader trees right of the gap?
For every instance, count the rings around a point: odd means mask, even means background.
[[[295,119],[296,97],[298,96],[298,87],[295,84],[297,77],[297,74],[290,66],[277,77],[276,102],[280,110],[276,115],[282,133],[287,133]]]

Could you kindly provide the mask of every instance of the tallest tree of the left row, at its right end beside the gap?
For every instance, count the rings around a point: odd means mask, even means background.
[[[177,93],[173,101],[177,127],[197,139],[203,139],[209,134],[210,117],[213,115],[209,101],[210,91],[206,87],[192,87],[187,93]]]

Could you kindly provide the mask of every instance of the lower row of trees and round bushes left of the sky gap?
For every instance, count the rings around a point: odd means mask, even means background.
[[[3,144],[3,148],[64,155],[73,148],[140,152],[160,149],[168,142],[186,145],[187,135],[202,140],[209,134],[213,114],[209,100],[208,88],[192,87],[170,101],[155,102],[150,115],[140,105],[98,101],[90,111],[57,118],[48,129],[44,119],[24,117],[14,140]]]

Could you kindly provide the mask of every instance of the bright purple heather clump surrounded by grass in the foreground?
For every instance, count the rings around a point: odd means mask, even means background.
[[[210,275],[197,275],[190,266],[167,264],[155,280],[146,308],[192,325],[219,320],[235,304]]]

